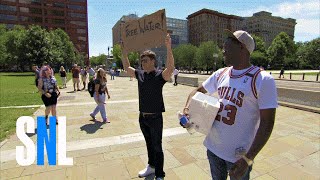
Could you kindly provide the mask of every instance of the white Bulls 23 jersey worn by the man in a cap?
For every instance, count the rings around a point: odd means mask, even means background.
[[[204,145],[221,159],[236,162],[237,149],[248,152],[260,123],[260,109],[278,107],[273,77],[256,66],[214,72],[202,86],[218,93],[220,109]]]

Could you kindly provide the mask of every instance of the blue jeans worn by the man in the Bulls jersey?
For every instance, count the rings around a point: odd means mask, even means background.
[[[207,156],[210,164],[210,170],[211,170],[211,176],[213,180],[225,180],[228,176],[228,171],[232,168],[234,163],[231,163],[229,161],[225,161],[215,154],[213,154],[210,150],[207,149]],[[248,180],[250,179],[250,172],[252,170],[252,166],[250,166],[245,172],[245,174],[242,176],[242,180]],[[234,178],[230,177],[230,180],[233,180]]]

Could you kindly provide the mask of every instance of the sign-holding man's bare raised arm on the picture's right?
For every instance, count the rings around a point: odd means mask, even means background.
[[[169,81],[174,70],[174,58],[171,49],[171,38],[170,35],[167,34],[166,37],[166,47],[167,47],[167,63],[166,69],[162,72],[162,77],[164,80]]]

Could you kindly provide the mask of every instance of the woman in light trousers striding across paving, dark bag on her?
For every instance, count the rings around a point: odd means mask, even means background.
[[[97,78],[94,80],[95,84],[95,92],[94,92],[94,100],[97,103],[97,107],[90,114],[92,119],[96,120],[96,115],[100,111],[103,123],[110,123],[107,118],[106,109],[105,109],[105,101],[106,101],[106,93],[108,95],[108,99],[110,99],[110,95],[107,88],[107,78],[106,73],[102,68],[98,69]]]

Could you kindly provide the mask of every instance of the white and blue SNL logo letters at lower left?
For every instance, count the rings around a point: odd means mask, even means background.
[[[16,147],[16,160],[20,166],[29,166],[35,161],[35,144],[26,133],[35,133],[34,119],[30,116],[21,116],[17,120],[16,133],[25,146]],[[25,132],[27,125],[27,132]],[[56,117],[49,118],[49,134],[44,116],[37,117],[37,165],[44,165],[44,147],[47,149],[48,163],[56,165],[56,151],[58,149],[58,165],[73,165],[73,158],[66,157],[66,117],[59,117],[58,147],[56,136]],[[25,152],[26,150],[26,152]],[[25,157],[26,154],[26,157]]]

